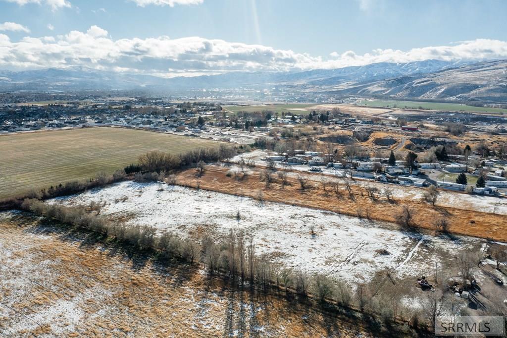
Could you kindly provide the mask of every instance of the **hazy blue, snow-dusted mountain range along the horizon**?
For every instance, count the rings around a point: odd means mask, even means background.
[[[212,88],[287,88],[331,94],[393,98],[507,102],[507,60],[373,63],[305,72],[232,72],[160,78],[82,66],[22,72],[0,71],[0,90],[140,89],[186,91]]]

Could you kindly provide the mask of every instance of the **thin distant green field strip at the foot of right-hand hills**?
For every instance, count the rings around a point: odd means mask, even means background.
[[[363,100],[360,102],[363,106],[389,107],[389,108],[410,108],[427,110],[448,110],[476,113],[507,113],[507,109],[474,107],[454,103],[437,102],[418,102],[418,101],[399,101],[399,100]]]

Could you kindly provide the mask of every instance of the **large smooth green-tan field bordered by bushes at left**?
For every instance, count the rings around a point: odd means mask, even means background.
[[[111,174],[151,150],[172,153],[220,143],[152,131],[84,128],[0,136],[0,198]]]

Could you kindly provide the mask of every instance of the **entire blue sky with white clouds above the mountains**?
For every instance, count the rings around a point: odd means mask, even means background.
[[[507,58],[504,0],[0,0],[0,69],[163,77]]]

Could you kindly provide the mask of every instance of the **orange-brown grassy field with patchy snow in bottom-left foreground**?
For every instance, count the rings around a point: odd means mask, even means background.
[[[287,306],[287,304],[289,306]],[[0,213],[0,336],[378,336],[25,213]]]

